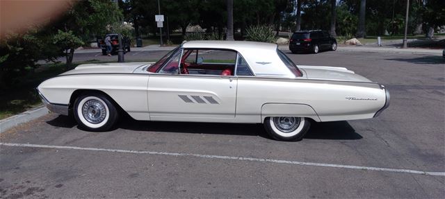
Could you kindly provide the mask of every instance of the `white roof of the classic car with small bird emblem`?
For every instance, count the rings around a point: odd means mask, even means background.
[[[277,44],[246,41],[200,40],[182,44],[184,49],[229,49],[238,51],[255,76],[294,78],[277,54]]]

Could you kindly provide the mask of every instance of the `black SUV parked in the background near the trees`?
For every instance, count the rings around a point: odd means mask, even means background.
[[[292,53],[298,51],[309,51],[318,53],[321,50],[337,50],[337,40],[332,37],[327,31],[297,31],[293,33],[291,40],[289,40],[289,50]]]

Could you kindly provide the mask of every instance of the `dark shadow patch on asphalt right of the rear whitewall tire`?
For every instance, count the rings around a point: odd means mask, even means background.
[[[362,139],[348,121],[313,122],[304,139]]]

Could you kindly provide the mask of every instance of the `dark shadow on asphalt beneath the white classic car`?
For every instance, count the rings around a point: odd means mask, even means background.
[[[58,128],[77,126],[72,116],[59,115],[47,121],[47,124]],[[77,127],[79,128],[79,127]],[[134,130],[151,132],[178,132],[216,135],[249,135],[271,139],[262,124],[255,123],[198,123],[175,121],[137,121],[129,116],[122,116],[111,130]],[[362,139],[347,121],[312,122],[304,139]]]

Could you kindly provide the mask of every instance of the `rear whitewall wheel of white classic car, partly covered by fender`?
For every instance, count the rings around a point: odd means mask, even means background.
[[[264,128],[270,137],[279,141],[300,141],[309,126],[309,121],[304,117],[272,116],[264,121]]]

